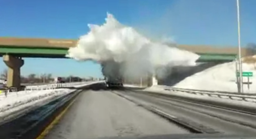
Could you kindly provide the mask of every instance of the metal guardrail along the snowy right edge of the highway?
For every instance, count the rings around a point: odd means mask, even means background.
[[[196,90],[196,89],[185,89],[185,88],[175,88],[170,86],[160,86],[167,91],[178,91],[185,92],[195,95],[203,95],[210,97],[218,97],[221,99],[232,99],[240,101],[250,101],[256,103],[256,93],[237,93],[237,92],[228,92],[228,91],[210,91],[210,90]]]

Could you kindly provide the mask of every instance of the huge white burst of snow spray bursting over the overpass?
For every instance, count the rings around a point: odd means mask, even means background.
[[[119,23],[109,13],[103,25],[88,26],[89,33],[82,35],[76,47],[70,48],[66,56],[100,63],[105,76],[117,74],[115,69],[118,65],[124,78],[136,79],[146,76],[145,73],[164,78],[166,68],[194,66],[199,58],[195,53],[151,41],[134,28]]]

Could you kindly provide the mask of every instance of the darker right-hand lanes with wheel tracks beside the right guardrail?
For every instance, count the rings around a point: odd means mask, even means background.
[[[256,115],[180,101],[163,96],[152,96],[138,91],[119,91],[141,104],[155,106],[172,116],[193,121],[224,134],[256,135]]]

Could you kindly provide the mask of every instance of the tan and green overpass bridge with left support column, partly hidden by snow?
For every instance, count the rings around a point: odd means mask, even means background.
[[[20,86],[20,67],[22,58],[66,58],[68,48],[74,47],[77,40],[47,38],[8,38],[0,37],[0,56],[8,66],[8,86]],[[178,45],[180,49],[200,55],[198,62],[233,61],[238,53],[237,48],[214,48],[205,45]],[[246,56],[246,49],[242,49]]]

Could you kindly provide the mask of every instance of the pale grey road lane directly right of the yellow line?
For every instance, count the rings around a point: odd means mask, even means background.
[[[111,91],[84,91],[45,139],[189,134]]]

